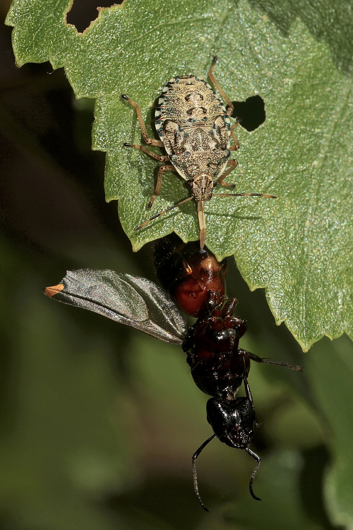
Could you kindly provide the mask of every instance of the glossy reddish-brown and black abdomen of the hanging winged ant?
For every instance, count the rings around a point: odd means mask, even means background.
[[[188,315],[204,316],[211,293],[216,304],[223,301],[227,260],[218,262],[212,252],[201,250],[197,241],[186,244],[170,234],[156,243],[154,260],[161,286]]]

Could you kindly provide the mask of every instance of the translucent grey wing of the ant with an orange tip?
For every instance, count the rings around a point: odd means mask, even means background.
[[[181,344],[186,320],[168,293],[153,281],[112,270],[67,271],[61,283],[44,293],[64,304],[83,307],[143,331]]]

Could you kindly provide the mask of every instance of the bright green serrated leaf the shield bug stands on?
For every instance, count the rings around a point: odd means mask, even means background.
[[[349,3],[303,2],[292,11],[284,2],[125,0],[102,9],[83,34],[66,24],[70,4],[14,0],[6,23],[17,64],[64,66],[77,98],[97,99],[93,148],[107,153],[106,199],[120,198],[133,249],[173,230],[195,240],[198,223],[192,201],[135,232],[151,215],[157,164],[122,147],[139,144],[141,131],[119,95],[141,105],[156,137],[152,107],[162,87],[178,74],[205,77],[217,54],[215,74],[231,100],[259,94],[266,104],[261,127],[238,127],[237,190],[279,198],[212,199],[206,244],[219,259],[234,253],[250,288],[266,288],[277,324],[284,321],[304,350],[323,335],[353,337]],[[167,173],[152,215],[186,196],[182,180]]]

